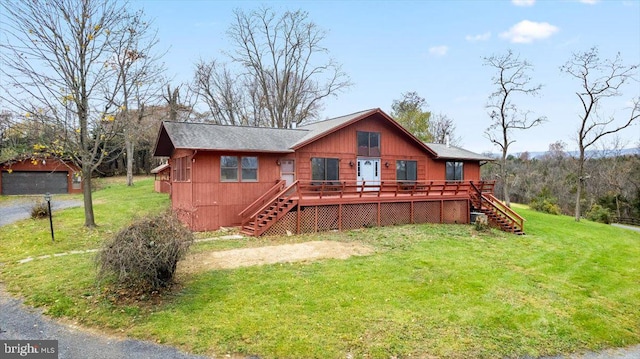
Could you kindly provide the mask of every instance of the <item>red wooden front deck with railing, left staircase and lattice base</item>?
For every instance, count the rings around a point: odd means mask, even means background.
[[[326,228],[338,230],[386,223],[468,223],[472,195],[490,195],[493,188],[493,182],[470,181],[296,181],[288,187],[279,181],[239,215],[243,232],[255,236],[279,221],[291,222],[287,231],[300,233],[305,227],[301,212],[312,208],[314,231],[323,221],[333,223]],[[345,216],[345,210],[354,213]],[[319,214],[323,211],[327,214]]]

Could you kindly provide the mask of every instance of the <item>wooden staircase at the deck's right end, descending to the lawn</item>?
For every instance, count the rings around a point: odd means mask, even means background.
[[[524,218],[507,207],[492,193],[483,191],[471,182],[471,206],[473,210],[484,213],[489,223],[505,232],[523,235]]]

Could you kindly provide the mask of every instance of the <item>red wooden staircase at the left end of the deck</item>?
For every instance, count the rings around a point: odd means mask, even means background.
[[[279,181],[272,189],[249,205],[240,213],[242,217],[240,232],[258,237],[271,228],[274,223],[298,205],[297,199],[293,198],[297,185],[296,181],[289,187],[283,188],[284,181]],[[280,191],[273,194],[274,189],[280,189]],[[260,205],[261,203],[262,205]]]

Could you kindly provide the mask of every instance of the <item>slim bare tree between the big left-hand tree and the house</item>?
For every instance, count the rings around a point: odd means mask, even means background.
[[[160,56],[154,53],[158,44],[156,31],[146,21],[144,13],[138,11],[128,15],[124,26],[111,31],[107,46],[113,57],[110,65],[117,71],[120,95],[119,119],[123,122],[124,151],[127,163],[127,185],[133,185],[133,161],[137,129],[144,116],[144,104],[157,95],[161,86],[163,67]],[[132,100],[137,110],[131,116]]]

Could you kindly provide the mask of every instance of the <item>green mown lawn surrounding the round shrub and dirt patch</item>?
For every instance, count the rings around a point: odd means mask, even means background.
[[[78,230],[81,211],[60,212],[68,222],[60,244],[47,242],[45,222],[3,227],[7,288],[52,316],[207,355],[535,357],[640,343],[640,233],[520,206],[522,237],[425,224],[197,244],[201,252],[358,241],[376,252],[185,276],[160,303],[110,302],[90,254],[15,263],[97,247],[135,215],[166,207],[151,189],[140,181],[96,192],[96,231]]]

